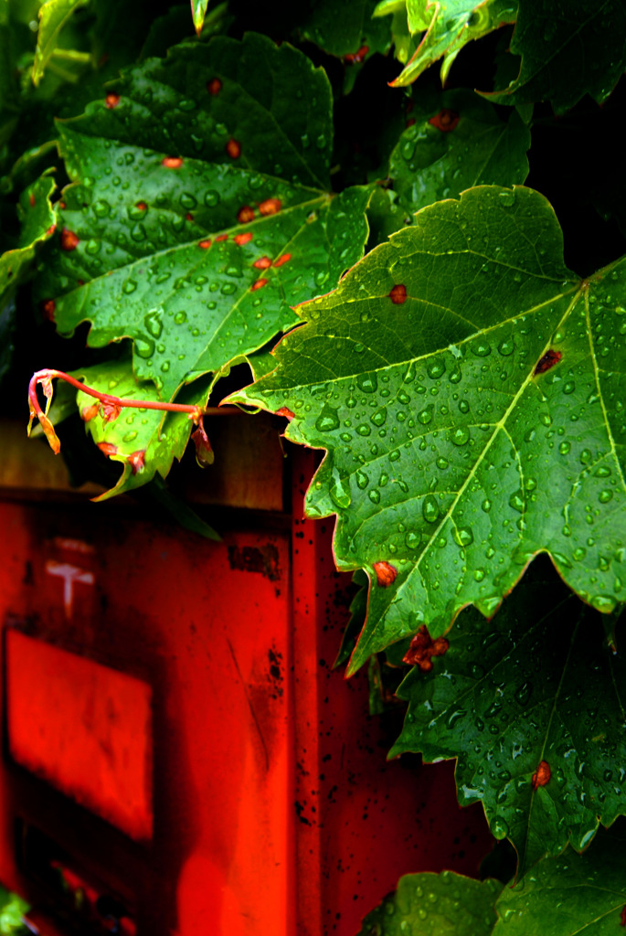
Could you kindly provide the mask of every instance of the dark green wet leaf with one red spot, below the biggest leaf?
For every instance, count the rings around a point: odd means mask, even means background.
[[[533,563],[492,621],[459,615],[432,670],[400,685],[409,711],[389,753],[457,757],[459,803],[482,801],[520,874],[568,841],[581,851],[626,811],[626,667],[603,616],[550,572]]]

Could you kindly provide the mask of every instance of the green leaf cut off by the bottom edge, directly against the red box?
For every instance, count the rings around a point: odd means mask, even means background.
[[[358,936],[490,936],[499,881],[454,871],[405,874],[398,890],[363,920]]]

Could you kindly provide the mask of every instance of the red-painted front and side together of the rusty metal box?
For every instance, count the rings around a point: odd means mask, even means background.
[[[0,503],[9,644],[44,641],[153,699],[151,841],[77,802],[106,758],[77,758],[78,786],[57,782],[69,796],[21,766],[37,749],[25,724],[21,753],[4,758],[0,880],[39,921],[57,914],[54,932],[84,923],[55,889],[63,873],[90,906],[123,905],[138,936],[354,936],[400,874],[475,873],[488,850],[482,812],[457,807],[451,765],[387,763],[399,716],[371,718],[364,674],[331,669],[353,589],[334,569],[332,523],[301,519],[313,455],[295,461],[293,511],[225,514],[217,544],[105,505]],[[24,704],[28,681],[47,679],[34,665],[9,665],[11,680],[24,670]],[[124,731],[139,738],[145,697],[137,705]],[[101,740],[100,727],[80,731]]]

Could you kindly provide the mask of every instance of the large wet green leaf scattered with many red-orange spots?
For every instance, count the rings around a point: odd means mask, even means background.
[[[170,399],[291,326],[367,237],[370,190],[328,192],[330,113],[324,72],[253,34],[183,44],[60,124],[80,182],[37,285],[58,329],[132,338]]]

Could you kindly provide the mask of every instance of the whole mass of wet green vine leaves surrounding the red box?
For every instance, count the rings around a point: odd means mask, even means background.
[[[227,392],[324,450],[307,512],[361,588],[339,662],[499,841],[485,881],[405,877],[363,933],[617,932],[623,6],[192,14],[0,0],[5,401],[65,366],[195,414]],[[106,497],[165,496],[189,415],[73,388],[49,413],[122,464]]]

